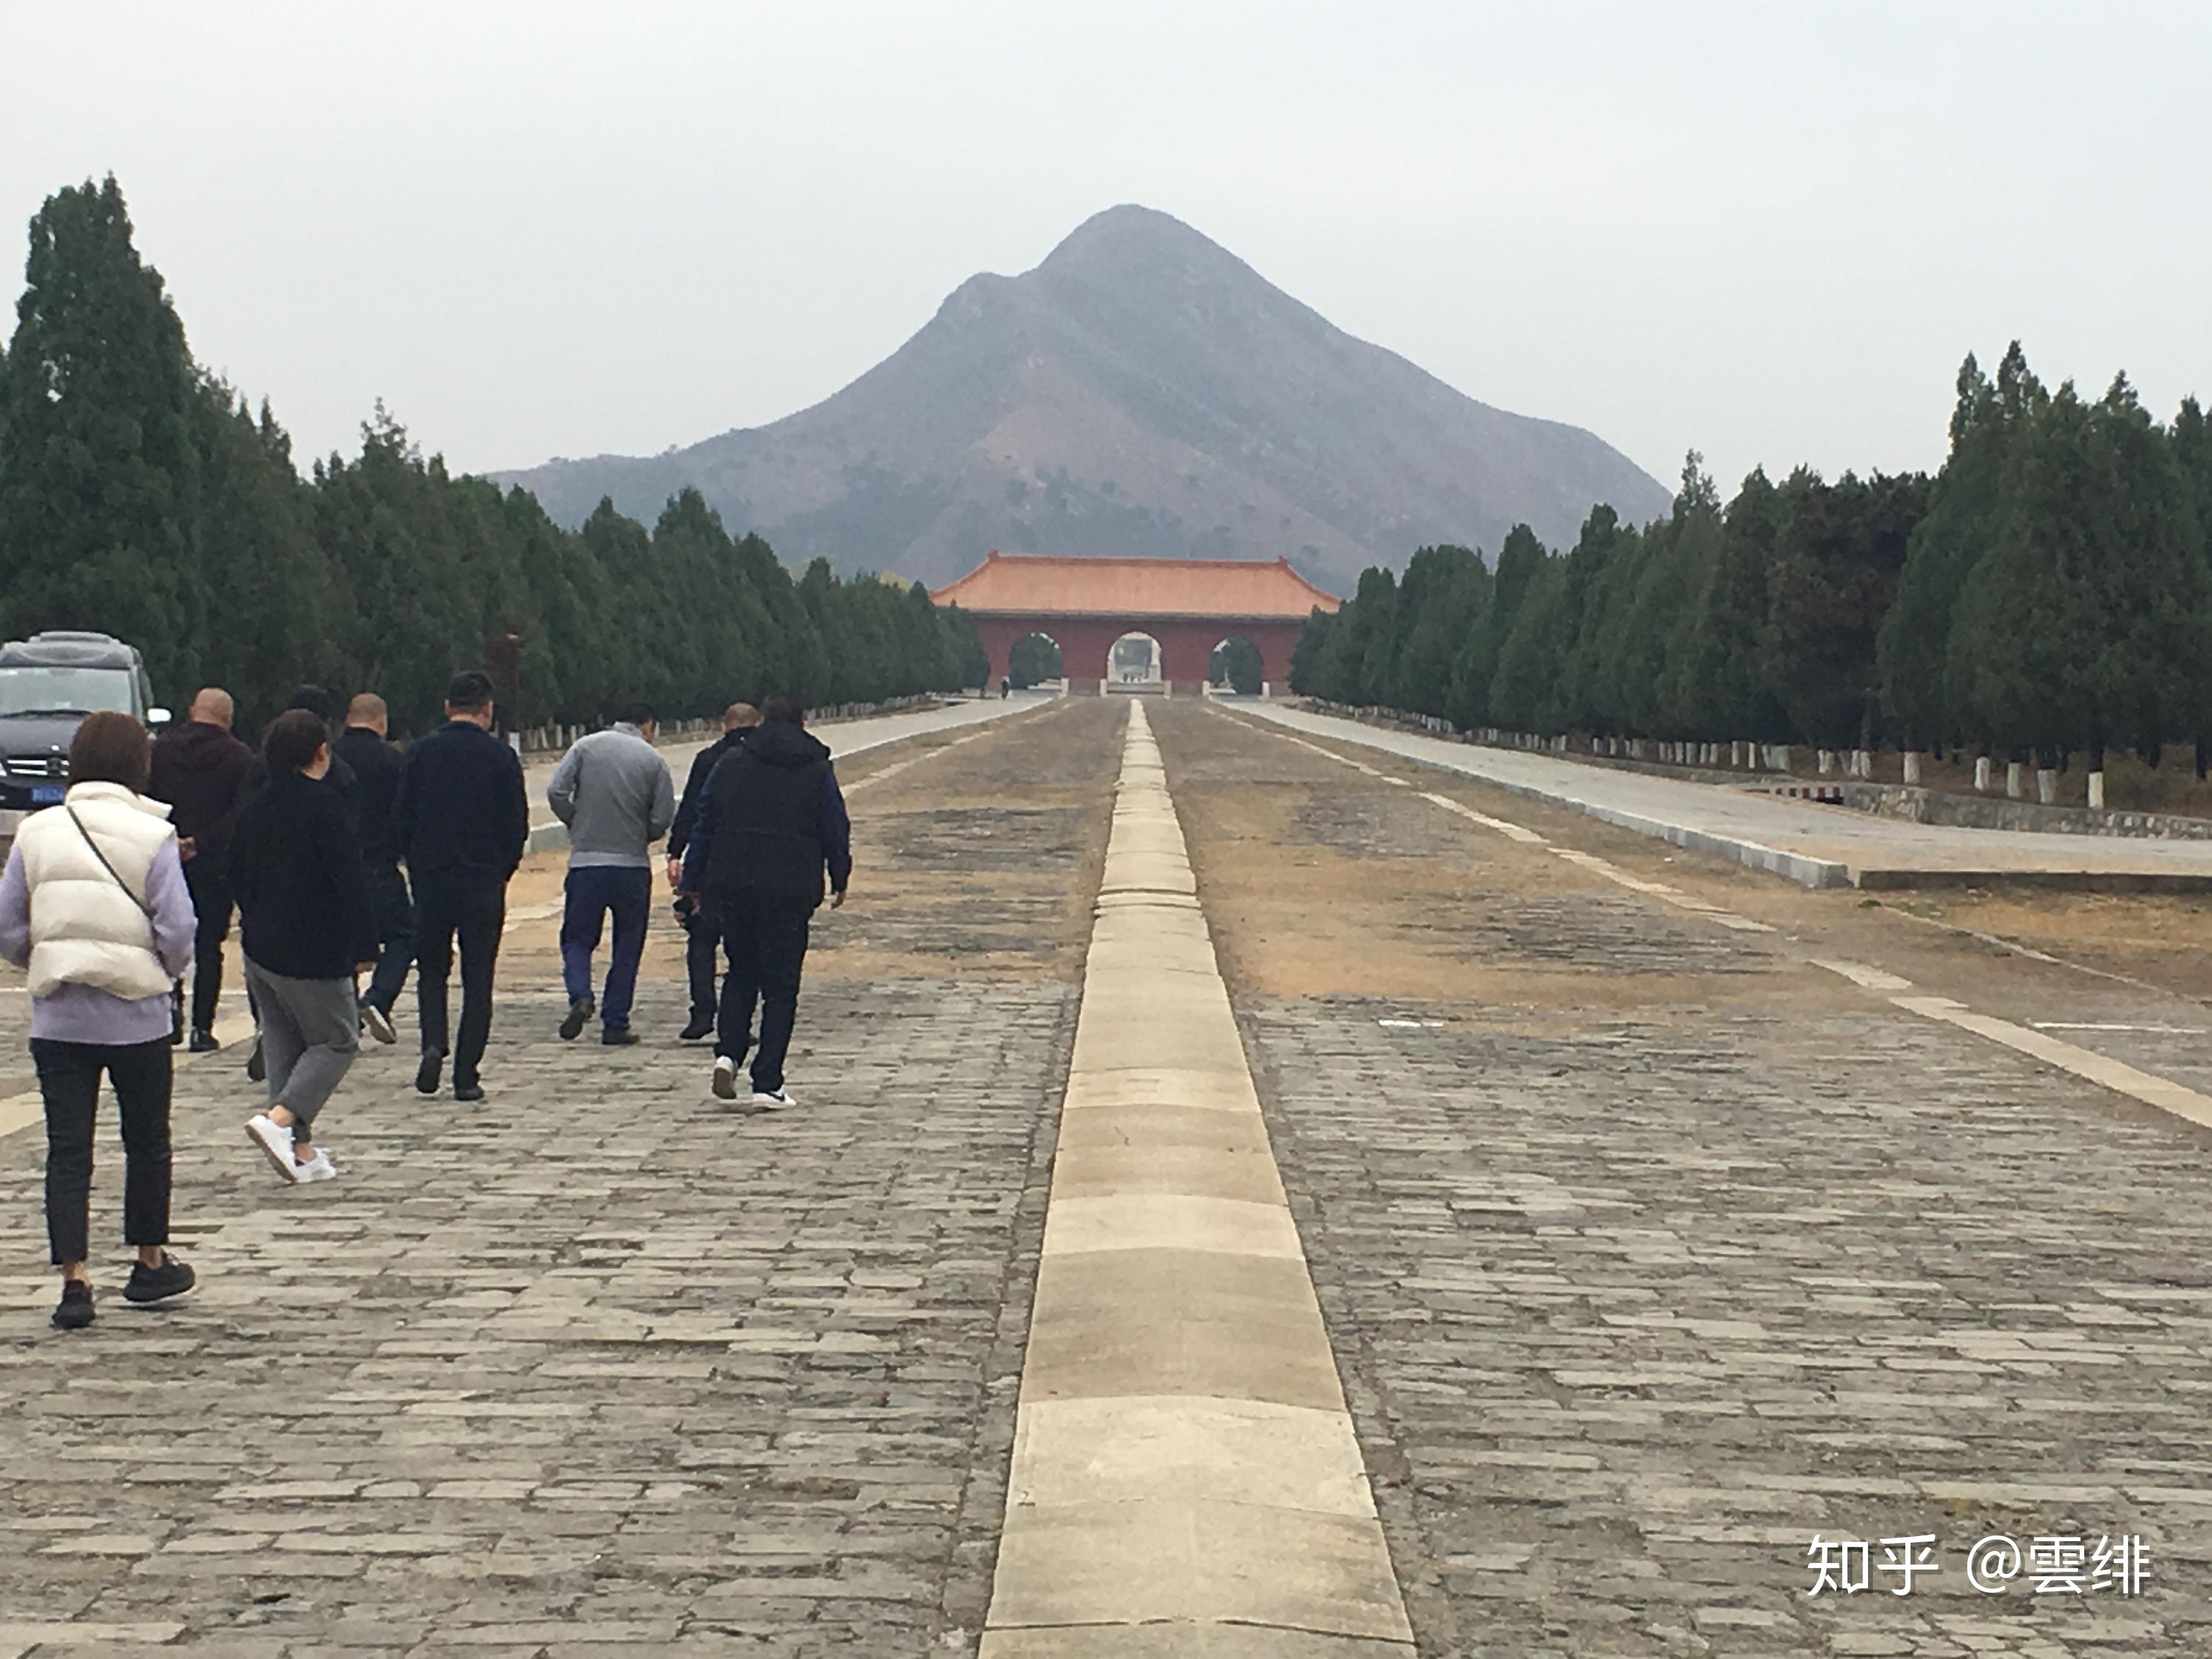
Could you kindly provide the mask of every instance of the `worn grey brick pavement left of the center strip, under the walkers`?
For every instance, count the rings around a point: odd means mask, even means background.
[[[1013,721],[858,796],[796,1113],[710,1104],[670,978],[646,1046],[555,1042],[549,918],[511,940],[484,1110],[420,1102],[403,1031],[330,1108],[338,1183],[274,1186],[237,1057],[184,1066],[204,1287],[173,1310],[113,1296],[102,1248],[100,1323],[46,1329],[42,1148],[0,1141],[0,1655],[971,1652],[1104,717]],[[947,803],[1060,830],[995,874]]]

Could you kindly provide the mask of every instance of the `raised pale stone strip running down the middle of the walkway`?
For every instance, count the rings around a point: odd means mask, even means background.
[[[1413,1652],[1144,706],[982,1659]]]

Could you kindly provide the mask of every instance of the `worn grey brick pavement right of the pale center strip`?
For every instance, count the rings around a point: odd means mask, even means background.
[[[1157,730],[1422,1655],[2212,1652],[2212,1139],[1219,712]],[[1303,905],[1254,891],[1316,823]],[[1809,1599],[1816,1533],[1942,1573]],[[1984,1533],[2150,1577],[1984,1597]]]

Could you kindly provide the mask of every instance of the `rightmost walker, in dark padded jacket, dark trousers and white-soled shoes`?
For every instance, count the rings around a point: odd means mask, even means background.
[[[721,920],[730,958],[714,1033],[714,1097],[737,1099],[737,1068],[752,1046],[761,1004],[761,1048],[752,1057],[752,1104],[783,1110],[783,1057],[799,1018],[799,973],[807,925],[823,902],[845,902],[852,880],[852,818],[830,750],[805,732],[796,697],[770,697],[761,730],[714,768],[684,849],[684,891]]]

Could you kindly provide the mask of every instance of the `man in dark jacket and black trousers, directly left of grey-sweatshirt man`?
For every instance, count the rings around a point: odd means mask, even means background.
[[[484,1097],[480,1068],[491,1040],[491,973],[507,925],[507,883],[531,834],[522,761],[491,734],[491,675],[453,675],[445,726],[400,763],[392,825],[414,876],[416,995],[422,1009],[422,1064],[416,1088],[438,1093],[447,1055],[445,982],[460,938],[460,1040],[453,1044],[453,1099]]]

